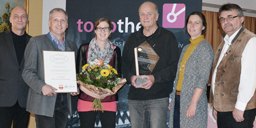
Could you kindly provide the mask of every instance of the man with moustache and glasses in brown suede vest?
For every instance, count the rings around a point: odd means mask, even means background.
[[[211,103],[218,127],[253,127],[256,115],[256,35],[244,28],[239,5],[219,9],[227,33],[212,64]]]

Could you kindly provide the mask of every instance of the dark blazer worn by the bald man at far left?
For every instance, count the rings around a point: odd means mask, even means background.
[[[31,36],[27,35],[27,43]],[[24,57],[19,65],[10,30],[0,33],[0,107],[17,102],[26,108],[29,87],[22,79]]]

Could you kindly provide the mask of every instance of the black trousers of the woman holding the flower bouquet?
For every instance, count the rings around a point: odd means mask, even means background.
[[[102,128],[114,128],[116,127],[116,112],[100,110],[89,112],[78,112],[80,119],[80,128],[94,128],[96,116],[99,116]]]

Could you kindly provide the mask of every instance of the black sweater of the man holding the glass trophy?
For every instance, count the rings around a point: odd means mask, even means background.
[[[138,32],[129,35],[122,57],[122,73],[127,79],[127,84],[131,84],[131,77],[135,75],[135,47],[147,41],[159,56],[157,65],[151,74],[155,77],[155,83],[150,89],[136,89],[130,86],[129,100],[153,100],[169,97],[172,92],[174,78],[179,59],[178,43],[175,35],[165,29],[158,27],[153,35],[148,39],[143,35],[143,27]],[[140,74],[142,75],[142,74]]]

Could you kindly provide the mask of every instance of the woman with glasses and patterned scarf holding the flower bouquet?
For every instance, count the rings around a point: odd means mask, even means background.
[[[104,63],[112,66],[121,77],[121,49],[112,45],[108,39],[112,31],[110,20],[99,18],[95,23],[94,38],[90,43],[81,45],[78,50],[77,72],[81,72],[84,64],[94,60],[103,60]],[[103,112],[93,110],[91,104],[95,98],[101,99]],[[116,126],[116,95],[110,93],[98,95],[84,88],[80,91],[78,99],[78,114],[80,116],[80,127],[94,127],[96,116],[99,116],[101,127]]]

